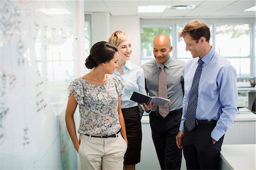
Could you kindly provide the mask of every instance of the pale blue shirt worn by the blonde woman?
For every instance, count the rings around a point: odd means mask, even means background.
[[[121,96],[121,108],[125,109],[138,106],[138,103],[131,101],[130,98],[131,92],[133,91],[146,94],[143,69],[130,61],[126,61],[125,65],[123,65],[123,73],[119,73],[117,69],[115,69],[114,75],[121,77],[124,84]]]

